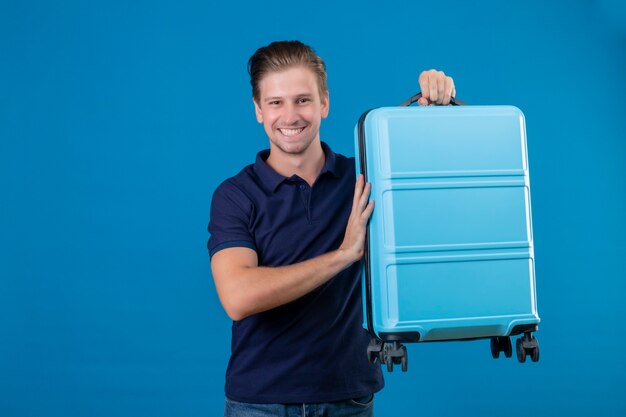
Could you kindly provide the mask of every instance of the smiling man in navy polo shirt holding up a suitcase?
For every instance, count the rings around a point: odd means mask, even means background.
[[[371,416],[383,378],[361,325],[370,185],[354,158],[320,140],[330,101],[310,47],[274,42],[248,71],[270,149],[217,188],[209,223],[213,278],[233,319],[225,415]],[[455,94],[443,72],[419,83],[421,105]]]

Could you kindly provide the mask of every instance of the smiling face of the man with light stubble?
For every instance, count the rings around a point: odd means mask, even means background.
[[[328,94],[320,97],[313,71],[297,66],[267,73],[259,82],[259,92],[256,117],[270,139],[271,152],[304,154],[314,141],[319,142],[329,101]]]

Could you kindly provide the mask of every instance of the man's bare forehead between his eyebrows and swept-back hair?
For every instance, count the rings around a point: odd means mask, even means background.
[[[315,73],[307,67],[290,67],[283,71],[270,71],[259,82],[261,100],[266,97],[317,95]]]

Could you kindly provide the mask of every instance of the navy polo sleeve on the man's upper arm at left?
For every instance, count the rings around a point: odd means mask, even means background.
[[[256,251],[250,229],[254,205],[246,194],[231,181],[223,182],[213,193],[207,243],[209,255],[232,247]]]

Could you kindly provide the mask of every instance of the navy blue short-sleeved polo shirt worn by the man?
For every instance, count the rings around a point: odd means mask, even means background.
[[[269,150],[213,194],[208,249],[256,251],[260,266],[301,262],[339,248],[354,194],[354,158],[322,143],[326,161],[313,187],[267,163]],[[360,264],[280,307],[234,321],[226,396],[249,403],[317,403],[383,387],[362,328]]]

